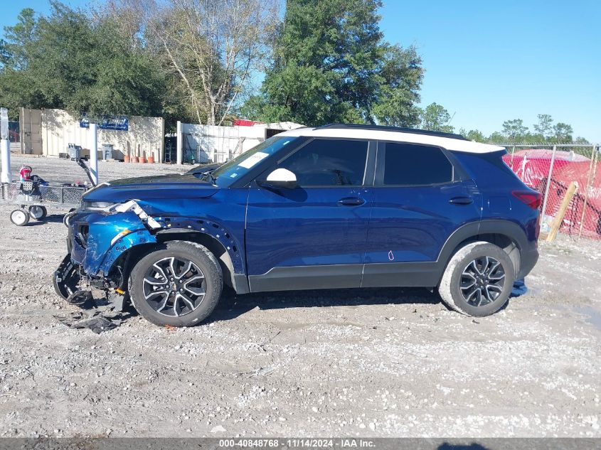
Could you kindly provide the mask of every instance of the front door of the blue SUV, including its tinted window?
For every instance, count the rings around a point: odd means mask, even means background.
[[[286,168],[297,188],[252,183],[246,219],[251,291],[361,285],[371,154],[375,149],[365,140],[313,139],[257,178],[260,183]]]

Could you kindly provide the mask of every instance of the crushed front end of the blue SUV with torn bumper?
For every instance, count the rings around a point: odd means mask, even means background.
[[[54,273],[57,294],[83,306],[92,301],[92,289],[100,289],[116,309],[122,309],[131,270],[127,252],[143,251],[144,245],[156,243],[155,231],[164,226],[160,218],[151,218],[139,200],[90,202],[70,213],[65,225],[69,229],[68,255]]]

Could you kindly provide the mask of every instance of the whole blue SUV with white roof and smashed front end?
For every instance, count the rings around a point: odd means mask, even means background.
[[[193,326],[238,294],[436,288],[486,316],[538,259],[541,196],[499,146],[456,134],[331,124],[277,134],[222,166],[102,183],[66,218],[55,289],[131,299]]]

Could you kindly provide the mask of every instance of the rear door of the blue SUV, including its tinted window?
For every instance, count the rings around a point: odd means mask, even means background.
[[[379,142],[362,286],[434,286],[436,261],[482,199],[454,157],[436,146]]]

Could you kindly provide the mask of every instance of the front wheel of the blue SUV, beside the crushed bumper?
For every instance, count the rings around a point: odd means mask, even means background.
[[[190,266],[186,266],[186,262],[191,262]],[[175,270],[174,266],[164,264],[175,264]],[[186,267],[190,267],[189,273],[184,272]],[[196,286],[188,288],[191,282]],[[137,262],[129,277],[134,308],[147,321],[159,326],[198,325],[213,312],[222,290],[219,262],[206,247],[195,242],[171,241],[160,245]],[[197,294],[200,291],[204,293]]]

